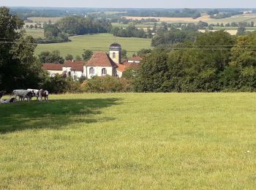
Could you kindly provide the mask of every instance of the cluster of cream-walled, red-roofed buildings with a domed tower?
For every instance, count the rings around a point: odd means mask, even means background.
[[[77,80],[80,77],[91,79],[94,76],[110,75],[121,77],[123,72],[130,66],[138,66],[142,61],[140,56],[121,59],[121,45],[113,43],[110,45],[109,54],[97,52],[91,59],[85,61],[66,61],[64,64],[43,64],[42,68],[49,72],[50,77],[63,75]]]

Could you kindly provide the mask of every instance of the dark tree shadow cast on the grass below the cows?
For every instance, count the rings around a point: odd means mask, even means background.
[[[97,116],[120,99],[55,99],[0,105],[0,134],[25,129],[59,129],[70,124],[97,123],[115,118]],[[96,117],[97,116],[97,117]],[[75,126],[74,126],[75,127]]]

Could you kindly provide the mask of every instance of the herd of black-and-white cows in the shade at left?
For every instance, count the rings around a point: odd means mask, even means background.
[[[43,98],[45,102],[48,102],[49,100],[49,92],[42,89],[14,90],[12,91],[10,99],[1,99],[1,97],[4,96],[5,93],[6,91],[0,91],[0,104],[16,102],[17,97],[19,101],[24,101],[25,99],[27,101],[31,101],[33,97],[36,97],[37,100],[39,100],[40,102],[43,101]]]

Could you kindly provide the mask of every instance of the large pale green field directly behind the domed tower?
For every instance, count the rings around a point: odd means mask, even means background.
[[[44,50],[59,50],[62,56],[72,54],[72,56],[81,56],[83,49],[108,52],[109,45],[113,42],[121,44],[122,48],[127,50],[128,56],[132,56],[133,53],[143,48],[151,48],[151,39],[142,38],[124,38],[114,37],[113,34],[94,34],[69,37],[72,42],[37,45],[36,54]]]

